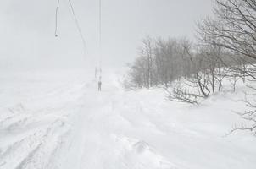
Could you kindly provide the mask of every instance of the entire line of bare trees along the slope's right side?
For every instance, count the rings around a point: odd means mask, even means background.
[[[125,86],[164,87],[170,101],[192,104],[221,91],[224,81],[233,90],[242,81],[255,92],[248,84],[256,81],[256,0],[215,0],[214,17],[204,17],[197,27],[198,41],[193,43],[186,38],[144,38]],[[253,123],[234,130],[256,134],[256,102],[244,102],[251,111],[239,114]]]

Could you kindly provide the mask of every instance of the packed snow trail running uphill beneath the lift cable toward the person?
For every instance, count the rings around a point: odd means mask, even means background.
[[[122,104],[122,91],[105,85],[98,92],[95,86],[97,82],[92,81],[83,89],[84,104],[73,121],[74,134],[64,148],[67,152],[62,155],[67,156],[60,168],[174,168],[147,143],[125,136],[131,122],[115,107]]]

